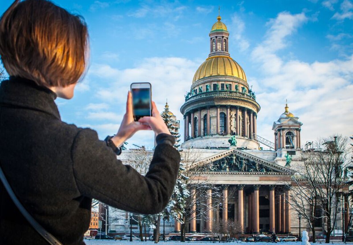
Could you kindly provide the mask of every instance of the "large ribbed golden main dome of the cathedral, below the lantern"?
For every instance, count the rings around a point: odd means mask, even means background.
[[[246,76],[243,68],[229,56],[212,56],[197,69],[192,82],[210,77],[210,76],[234,76],[243,79],[246,82]]]

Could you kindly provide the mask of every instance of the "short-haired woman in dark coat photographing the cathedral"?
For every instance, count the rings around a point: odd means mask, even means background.
[[[0,86],[0,166],[25,209],[61,243],[84,244],[91,199],[134,213],[163,210],[180,155],[154,103],[133,121],[131,94],[114,137],[61,121],[56,97],[70,99],[86,68],[88,33],[77,16],[46,0],[16,0],[0,19],[0,56],[10,79]],[[138,130],[157,147],[142,176],[116,159]],[[0,244],[47,244],[0,184]]]

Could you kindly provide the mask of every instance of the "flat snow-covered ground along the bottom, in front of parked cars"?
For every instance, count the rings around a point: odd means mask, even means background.
[[[153,241],[146,241],[146,242],[141,242],[141,241],[121,241],[121,240],[84,240],[84,242],[86,243],[86,245],[153,245]],[[246,243],[244,241],[241,242],[233,242],[233,243],[211,243],[209,241],[189,241],[189,242],[185,242],[185,243],[181,243],[180,241],[160,241],[158,243],[159,245],[234,245],[234,244],[239,244],[239,245],[271,245],[272,243],[265,243],[265,242],[256,242],[256,243]],[[310,243],[311,245],[313,243]],[[320,244],[320,242],[316,243],[317,245]],[[324,242],[322,244],[325,244]],[[334,244],[339,244],[339,243],[334,243]],[[343,243],[340,243],[343,244]],[[348,243],[347,243],[348,244]],[[352,243],[350,243],[352,244]],[[277,243],[276,245],[301,245],[301,242],[299,241],[288,241],[285,243]],[[314,243],[315,245],[315,243]]]

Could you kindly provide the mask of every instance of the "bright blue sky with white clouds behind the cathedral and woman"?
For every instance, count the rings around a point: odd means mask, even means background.
[[[161,111],[180,106],[209,54],[217,21],[229,31],[229,53],[244,69],[261,106],[258,134],[273,141],[272,125],[289,111],[303,123],[302,144],[335,133],[353,134],[353,1],[56,0],[82,15],[90,34],[90,67],[72,100],[57,99],[62,119],[116,133],[132,82],[150,82]],[[11,1],[1,1],[4,12]],[[129,145],[153,146],[152,132]]]

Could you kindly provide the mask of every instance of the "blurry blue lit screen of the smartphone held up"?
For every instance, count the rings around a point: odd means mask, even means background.
[[[132,88],[133,115],[135,120],[151,115],[150,88]]]

